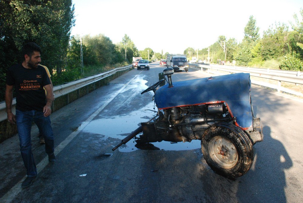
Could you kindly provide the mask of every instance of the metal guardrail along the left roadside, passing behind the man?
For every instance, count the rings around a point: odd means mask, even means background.
[[[109,70],[107,72],[101,73],[101,74],[97,74],[97,75],[93,75],[90,77],[85,77],[81,80],[76,80],[70,83],[66,83],[64,85],[58,85],[55,86],[54,89],[54,94],[55,94],[55,98],[61,97],[63,95],[66,95],[68,93],[71,93],[75,90],[80,89],[81,87],[85,87],[89,84],[92,84],[94,82],[97,82],[98,80],[102,80],[103,78],[106,78],[108,76],[111,76],[119,71],[123,71],[123,70],[127,70],[129,68],[131,68],[132,65],[128,65],[125,67],[121,67],[121,68],[115,68],[113,70]],[[16,98],[13,98],[13,102],[12,102],[12,112],[15,114],[15,106],[16,106]],[[7,119],[7,113],[6,113],[6,104],[5,101],[0,102],[0,122],[4,121]]]

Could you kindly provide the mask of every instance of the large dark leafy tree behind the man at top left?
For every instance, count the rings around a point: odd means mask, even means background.
[[[75,24],[72,0],[2,0],[0,10],[0,74],[23,60],[21,49],[27,42],[36,42],[42,48],[42,64],[51,74],[54,69],[60,73]]]

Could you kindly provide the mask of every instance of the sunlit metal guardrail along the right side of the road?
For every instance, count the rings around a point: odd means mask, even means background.
[[[278,92],[283,91],[291,94],[295,94],[298,96],[303,96],[302,93],[298,93],[292,90],[288,90],[286,88],[281,87],[281,81],[295,83],[295,84],[303,84],[303,75],[301,75],[300,71],[289,71],[289,70],[276,70],[276,69],[265,69],[265,68],[251,68],[251,67],[237,67],[237,66],[226,66],[226,65],[201,65],[201,64],[189,64],[190,67],[194,67],[196,70],[205,70],[207,72],[211,72],[209,70],[216,70],[215,74],[220,75],[219,71],[229,72],[231,73],[249,73],[251,76],[261,77],[271,80],[278,81],[276,86],[268,84],[267,87],[277,89]],[[256,83],[258,84],[258,83]],[[265,86],[264,83],[259,83],[262,86]]]

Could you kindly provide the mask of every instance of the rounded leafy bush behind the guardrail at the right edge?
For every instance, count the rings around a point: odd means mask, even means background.
[[[287,54],[279,66],[282,70],[303,71],[303,61],[300,59],[300,54],[292,52]]]

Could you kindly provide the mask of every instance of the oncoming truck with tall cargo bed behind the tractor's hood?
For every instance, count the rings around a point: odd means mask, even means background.
[[[185,54],[167,54],[166,66],[176,71],[188,71],[188,62]]]

